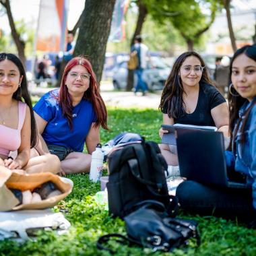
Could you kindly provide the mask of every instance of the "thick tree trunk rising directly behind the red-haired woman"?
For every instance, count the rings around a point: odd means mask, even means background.
[[[88,56],[99,84],[114,6],[115,0],[86,0],[75,44],[74,56]]]

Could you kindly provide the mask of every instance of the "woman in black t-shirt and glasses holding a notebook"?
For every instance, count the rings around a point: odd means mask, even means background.
[[[212,86],[203,59],[193,51],[183,53],[174,62],[159,108],[165,125],[215,126],[228,137],[228,104]],[[167,132],[161,128],[160,137]],[[168,165],[179,164],[176,148],[161,144],[160,150]]]

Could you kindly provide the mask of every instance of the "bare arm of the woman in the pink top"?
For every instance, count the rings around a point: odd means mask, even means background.
[[[14,160],[10,158],[5,161],[5,166],[9,169],[22,169],[30,158],[30,138],[31,138],[31,119],[30,108],[26,106],[26,116],[21,130],[21,143],[18,148],[18,155]]]

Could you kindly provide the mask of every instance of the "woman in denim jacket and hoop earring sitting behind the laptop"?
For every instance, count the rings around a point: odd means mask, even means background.
[[[197,214],[240,217],[256,228],[256,44],[243,46],[230,63],[228,94],[230,147],[229,174],[243,174],[249,189],[210,187],[185,181],[177,188],[179,203]]]

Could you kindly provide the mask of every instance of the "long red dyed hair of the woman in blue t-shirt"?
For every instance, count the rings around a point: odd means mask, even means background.
[[[97,83],[96,75],[92,70],[92,65],[90,61],[88,61],[88,59],[83,55],[79,55],[78,57],[74,57],[73,59],[71,59],[71,61],[67,63],[63,71],[63,76],[61,79],[61,88],[59,90],[59,98],[58,98],[59,104],[62,108],[63,115],[64,117],[67,118],[69,127],[73,129],[73,122],[72,122],[73,104],[72,104],[71,96],[67,90],[67,86],[65,85],[65,82],[67,79],[67,74],[76,65],[82,65],[88,70],[88,73],[90,73],[90,86],[88,90],[84,92],[84,99],[92,103],[92,106],[96,113],[97,121],[94,127],[98,127],[99,125],[101,125],[103,129],[108,129],[108,126],[106,124],[106,120],[107,120],[106,106],[98,90],[99,86]]]

